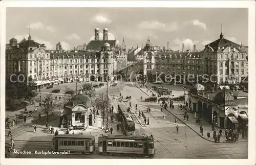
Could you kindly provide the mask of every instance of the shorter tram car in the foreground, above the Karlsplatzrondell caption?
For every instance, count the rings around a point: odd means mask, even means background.
[[[95,151],[95,137],[91,135],[59,134],[52,138],[52,150],[90,154]]]

